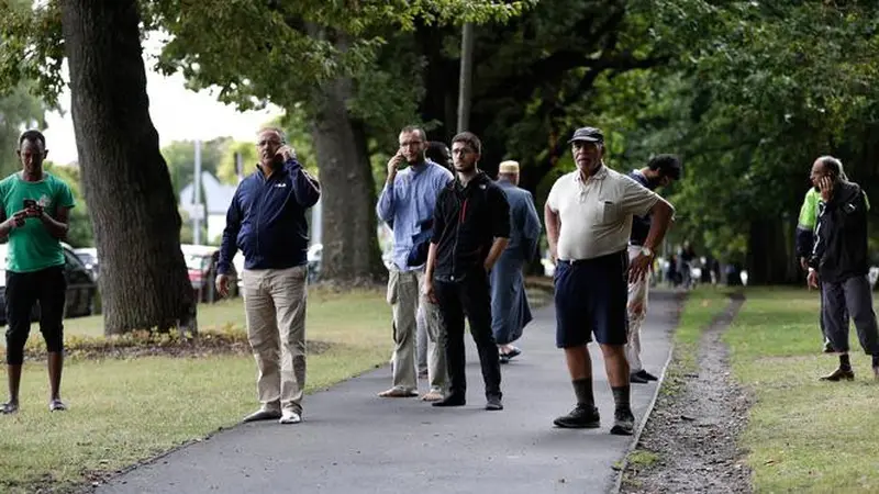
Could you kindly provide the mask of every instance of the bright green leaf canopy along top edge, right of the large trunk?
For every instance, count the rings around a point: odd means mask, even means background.
[[[191,88],[220,87],[242,109],[307,100],[315,85],[370,68],[382,31],[426,23],[508,20],[535,1],[323,0],[143,1],[147,27],[168,33],[158,68],[182,71]]]

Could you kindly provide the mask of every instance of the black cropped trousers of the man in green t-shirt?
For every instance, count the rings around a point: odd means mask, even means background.
[[[31,313],[40,302],[40,333],[49,352],[64,350],[64,304],[67,282],[64,267],[33,272],[7,271],[7,363],[24,361],[24,344],[31,333]]]

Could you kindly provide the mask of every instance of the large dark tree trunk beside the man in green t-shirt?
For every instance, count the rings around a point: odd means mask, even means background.
[[[180,215],[149,119],[134,0],[64,0],[82,186],[101,258],[104,332],[165,330],[194,314]]]

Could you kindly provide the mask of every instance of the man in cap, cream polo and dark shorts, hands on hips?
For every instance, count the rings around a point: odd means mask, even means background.
[[[582,127],[569,141],[577,170],[560,177],[546,200],[546,236],[555,271],[556,346],[565,349],[577,406],[554,424],[594,428],[600,416],[592,395],[592,361],[587,344],[601,347],[615,403],[611,434],[631,435],[625,358],[628,282],[649,270],[674,214],[671,204],[625,175],[604,166],[604,135]],[[652,214],[642,251],[630,263],[632,217]]]

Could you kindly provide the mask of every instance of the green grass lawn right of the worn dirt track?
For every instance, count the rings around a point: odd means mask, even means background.
[[[879,492],[879,383],[852,328],[854,382],[825,383],[815,291],[749,289],[725,340],[757,402],[743,446],[756,492]]]

